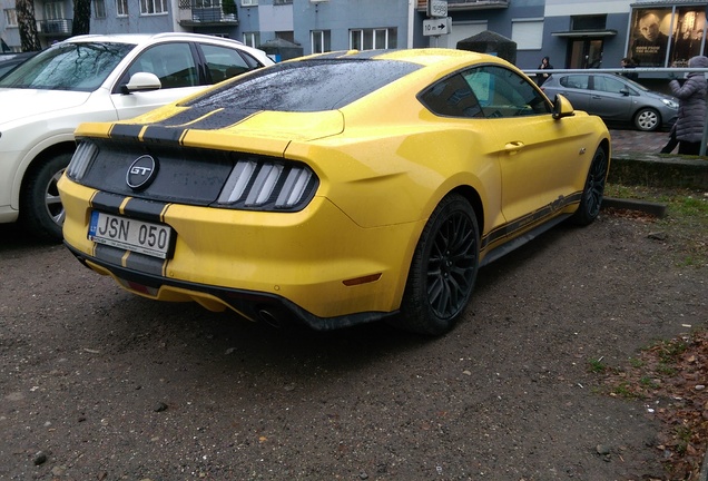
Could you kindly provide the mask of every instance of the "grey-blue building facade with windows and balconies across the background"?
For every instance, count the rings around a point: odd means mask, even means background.
[[[426,35],[442,0],[92,0],[91,33],[191,31],[254,47],[273,40],[304,55],[346,49],[455,48],[493,31],[517,43],[517,65],[684,67],[706,51],[708,0],[448,0],[443,35]],[[444,4],[444,2],[443,2]],[[20,45],[14,0],[0,0],[3,48]],[[68,38],[71,0],[35,0],[43,46]],[[441,27],[443,24],[441,23]],[[492,52],[493,53],[493,52]]]

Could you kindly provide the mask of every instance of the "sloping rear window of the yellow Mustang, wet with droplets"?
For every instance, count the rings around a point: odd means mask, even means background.
[[[198,110],[334,110],[417,70],[396,60],[312,59],[278,63],[183,104]]]

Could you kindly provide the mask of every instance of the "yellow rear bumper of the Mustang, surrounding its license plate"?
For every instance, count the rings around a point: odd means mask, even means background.
[[[92,269],[158,301],[195,301],[257,320],[277,305],[316,330],[395,313],[422,222],[362,227],[323,197],[298,213],[157,205],[60,181],[65,243]],[[170,226],[174,255],[161,259],[87,238],[94,209]],[[159,212],[159,220],[156,218]],[[150,217],[153,216],[153,217]]]

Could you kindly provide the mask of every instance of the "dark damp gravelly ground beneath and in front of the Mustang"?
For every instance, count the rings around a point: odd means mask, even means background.
[[[561,225],[431,340],[150,302],[0,226],[0,479],[668,479],[665,400],[606,395],[591,366],[708,325],[673,239]]]

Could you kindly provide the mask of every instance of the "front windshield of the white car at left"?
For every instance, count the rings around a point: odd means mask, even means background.
[[[134,48],[131,43],[58,43],[2,77],[0,88],[92,91]]]

